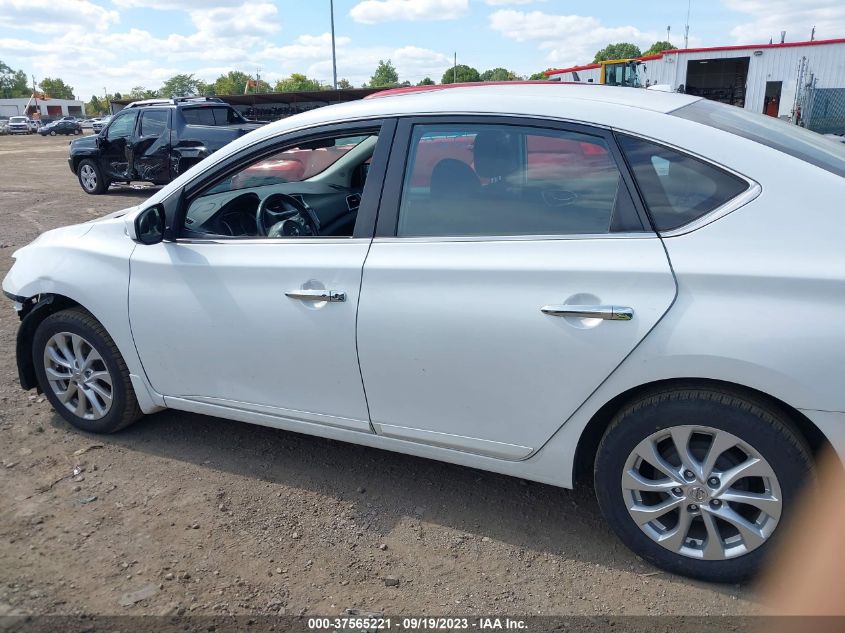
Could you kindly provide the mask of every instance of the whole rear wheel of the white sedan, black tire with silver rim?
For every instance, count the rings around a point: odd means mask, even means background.
[[[678,446],[687,447],[683,462]],[[692,387],[651,392],[620,411],[599,444],[594,482],[602,514],[643,559],[739,582],[760,569],[811,472],[810,450],[783,411]]]

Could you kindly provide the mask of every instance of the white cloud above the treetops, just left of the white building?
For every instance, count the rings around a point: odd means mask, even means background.
[[[493,12],[490,28],[517,42],[536,42],[538,48],[548,51],[546,62],[558,65],[590,62],[596,51],[613,42],[631,42],[647,48],[660,39],[656,33],[635,26],[604,26],[590,16],[513,9]]]

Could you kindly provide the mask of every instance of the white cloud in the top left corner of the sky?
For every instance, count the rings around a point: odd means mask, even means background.
[[[120,15],[88,0],[0,0],[0,26],[39,33],[63,33],[80,26],[106,30]]]

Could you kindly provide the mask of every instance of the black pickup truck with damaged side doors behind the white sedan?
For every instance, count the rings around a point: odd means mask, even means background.
[[[136,101],[96,136],[72,141],[68,165],[90,194],[113,182],[163,185],[259,126],[212,97]]]

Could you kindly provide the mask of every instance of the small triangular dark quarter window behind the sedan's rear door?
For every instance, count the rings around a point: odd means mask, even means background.
[[[688,224],[748,189],[743,179],[686,154],[618,138],[658,231]]]

